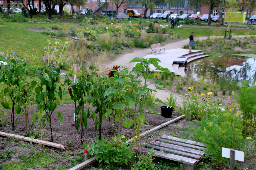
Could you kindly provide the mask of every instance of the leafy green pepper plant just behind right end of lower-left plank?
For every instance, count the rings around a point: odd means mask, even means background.
[[[58,85],[60,81],[59,74],[60,67],[54,66],[53,64],[38,68],[34,70],[34,74],[37,74],[37,78],[41,81],[36,81],[35,79],[31,82],[32,86],[35,87],[35,93],[37,94],[35,100],[37,102],[38,117],[43,119],[46,117],[50,123],[51,129],[51,142],[53,142],[53,129],[51,126],[51,116],[54,110],[58,107],[60,100],[62,100],[62,89],[61,85]],[[67,81],[67,76],[64,80],[64,84]],[[62,84],[63,85],[63,84]],[[59,100],[60,99],[60,100]],[[59,119],[61,120],[60,125],[64,122],[64,117],[61,112],[57,112]],[[36,115],[33,116],[36,118]]]

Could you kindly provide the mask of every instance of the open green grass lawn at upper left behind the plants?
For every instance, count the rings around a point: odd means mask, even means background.
[[[4,25],[0,25],[1,32],[1,49],[10,48],[15,50],[19,54],[19,50],[22,51],[38,51],[38,57],[41,58],[44,54],[45,46],[48,45],[47,39],[55,42],[53,37],[42,35],[40,33],[30,31],[26,27],[51,27],[52,23],[15,23],[4,22]],[[61,40],[61,42],[65,40]]]

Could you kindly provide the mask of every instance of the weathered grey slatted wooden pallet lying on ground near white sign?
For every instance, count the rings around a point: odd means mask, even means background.
[[[181,162],[182,160],[183,165],[189,170],[195,169],[196,164],[203,159],[203,155],[205,154],[203,150],[207,149],[204,143],[166,135],[161,136],[155,141],[157,142],[152,141],[148,145],[145,145],[146,148],[140,148],[140,150],[144,153],[152,151],[155,156],[160,158],[177,162]]]

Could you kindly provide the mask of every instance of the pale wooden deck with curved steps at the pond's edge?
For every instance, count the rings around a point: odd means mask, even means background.
[[[205,53],[202,53],[201,50],[191,50],[193,53],[188,53],[188,49],[171,49],[171,50],[165,50],[165,52],[162,53],[153,53],[149,54],[143,58],[158,58],[161,62],[159,62],[159,65],[161,67],[169,69],[171,72],[173,72],[175,75],[179,75],[181,77],[185,77],[185,67],[184,65],[186,63],[189,63],[193,60],[202,58],[202,57],[208,57],[209,55],[204,55]],[[184,67],[184,68],[183,68]],[[154,70],[155,67],[152,65],[150,66],[150,70]],[[159,70],[155,70],[159,71]]]

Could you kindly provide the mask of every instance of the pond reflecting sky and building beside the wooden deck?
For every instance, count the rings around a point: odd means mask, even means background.
[[[204,79],[216,83],[220,78],[236,81],[247,80],[250,85],[256,80],[256,55],[233,54],[222,57],[206,57],[185,65],[185,72],[192,79]]]

